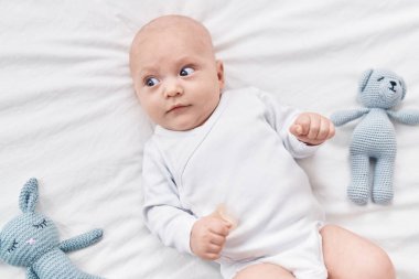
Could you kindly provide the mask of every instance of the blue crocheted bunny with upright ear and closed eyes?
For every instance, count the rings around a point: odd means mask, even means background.
[[[37,181],[31,179],[20,194],[23,214],[11,219],[0,233],[0,259],[26,267],[26,279],[100,279],[78,270],[65,253],[85,248],[100,240],[101,229],[58,240],[58,230],[45,215],[35,212]]]

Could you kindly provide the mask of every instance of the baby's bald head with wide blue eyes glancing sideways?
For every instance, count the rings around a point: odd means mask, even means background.
[[[137,33],[130,69],[141,106],[170,130],[205,122],[224,87],[223,63],[215,58],[210,32],[182,15],[158,18]]]

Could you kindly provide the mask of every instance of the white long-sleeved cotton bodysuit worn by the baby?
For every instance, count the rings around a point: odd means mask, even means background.
[[[219,204],[238,219],[218,260],[224,278],[271,262],[325,279],[324,215],[294,158],[312,154],[289,132],[298,111],[256,88],[227,90],[200,127],[157,126],[143,159],[143,216],[163,244],[191,253],[194,222]]]

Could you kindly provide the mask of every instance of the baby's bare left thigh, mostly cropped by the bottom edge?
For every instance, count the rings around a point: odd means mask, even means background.
[[[234,279],[296,279],[287,269],[272,264],[257,264],[243,269]]]

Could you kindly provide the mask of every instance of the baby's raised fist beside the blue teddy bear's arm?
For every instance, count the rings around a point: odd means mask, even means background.
[[[291,125],[290,132],[304,143],[318,146],[332,138],[335,129],[332,121],[324,116],[303,112]]]

